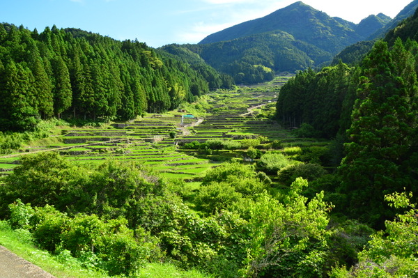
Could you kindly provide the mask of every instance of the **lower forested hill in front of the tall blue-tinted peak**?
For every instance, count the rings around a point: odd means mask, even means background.
[[[303,70],[332,57],[329,52],[296,40],[283,31],[209,45],[168,45],[162,49],[172,52],[173,47],[199,54],[217,70],[231,75],[236,84],[263,82],[272,79],[274,72]]]

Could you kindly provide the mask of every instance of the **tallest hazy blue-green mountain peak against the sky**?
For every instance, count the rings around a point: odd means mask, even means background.
[[[382,17],[377,17],[381,19]],[[366,21],[370,22],[370,20]],[[359,33],[357,26],[338,17],[330,17],[326,13],[312,8],[302,2],[296,2],[276,10],[265,17],[243,22],[224,29],[204,38],[199,44],[217,43],[225,40],[243,38],[257,33],[269,31],[284,31],[290,33],[296,40],[302,40],[315,45],[332,54],[336,54],[343,47],[364,40],[371,33],[385,26],[382,20],[380,25],[376,20],[371,26],[362,24],[369,31]]]

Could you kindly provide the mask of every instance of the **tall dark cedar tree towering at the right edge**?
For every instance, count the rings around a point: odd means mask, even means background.
[[[401,40],[392,52],[378,41],[362,64],[357,100],[348,130],[350,143],[339,171],[351,217],[379,227],[394,213],[384,196],[417,192],[411,172],[416,156],[417,76]],[[415,159],[416,160],[416,159]],[[413,171],[413,170],[412,170]],[[415,170],[416,171],[416,170]]]

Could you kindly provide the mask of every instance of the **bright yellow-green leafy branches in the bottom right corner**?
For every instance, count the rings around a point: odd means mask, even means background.
[[[359,253],[359,263],[350,270],[336,268],[332,277],[416,277],[417,209],[411,193],[385,196],[389,206],[405,209],[385,222],[386,230],[371,236],[369,248]]]

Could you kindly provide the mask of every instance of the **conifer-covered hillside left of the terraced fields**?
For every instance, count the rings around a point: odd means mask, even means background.
[[[138,41],[10,24],[0,24],[0,77],[0,130],[51,116],[126,120],[231,86],[208,66],[195,70]]]

